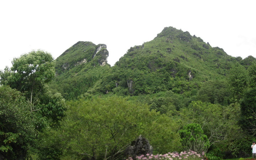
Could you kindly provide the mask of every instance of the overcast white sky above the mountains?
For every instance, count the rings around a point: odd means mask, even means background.
[[[106,44],[113,66],[169,26],[233,57],[256,57],[255,6],[255,0],[2,0],[0,70],[33,49],[56,59],[78,41]]]

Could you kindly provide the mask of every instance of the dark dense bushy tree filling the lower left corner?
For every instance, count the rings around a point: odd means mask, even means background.
[[[0,86],[0,159],[25,159],[35,136],[30,106],[21,92]]]

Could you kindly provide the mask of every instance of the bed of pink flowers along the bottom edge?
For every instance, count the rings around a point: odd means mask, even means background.
[[[186,159],[186,160],[203,160],[204,159],[204,152],[202,154],[196,153],[194,151],[184,151],[179,153],[166,153],[166,154],[157,154],[157,155],[153,155],[153,154],[146,154],[146,155],[140,155],[136,157],[136,160],[180,160],[180,159]],[[133,160],[131,157],[129,157],[127,160]]]

